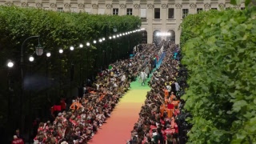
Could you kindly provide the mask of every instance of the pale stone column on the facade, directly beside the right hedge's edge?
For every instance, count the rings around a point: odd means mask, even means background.
[[[176,26],[175,26],[175,43],[180,43],[180,37],[181,37],[181,30],[178,30],[178,27],[181,24],[182,19],[182,4],[176,4],[175,5],[175,19],[176,19]]]

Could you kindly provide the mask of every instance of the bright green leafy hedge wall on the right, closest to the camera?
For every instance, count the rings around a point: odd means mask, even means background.
[[[189,143],[256,142],[256,10],[211,10],[182,22],[182,97],[194,126]]]

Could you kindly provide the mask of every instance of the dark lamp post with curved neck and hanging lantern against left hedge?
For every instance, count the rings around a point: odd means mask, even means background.
[[[21,109],[20,109],[20,114],[21,114],[21,116],[22,116],[22,118],[21,118],[21,122],[22,122],[22,126],[21,126],[21,131],[22,131],[22,133],[24,132],[24,122],[25,122],[25,114],[23,113],[23,101],[24,101],[24,95],[23,95],[23,90],[24,90],[24,82],[23,82],[23,80],[24,80],[24,76],[23,76],[23,65],[24,65],[24,61],[23,61],[23,57],[24,57],[24,55],[23,55],[23,49],[24,49],[24,46],[25,46],[25,44],[26,44],[26,42],[28,41],[28,40],[30,40],[30,39],[32,39],[32,38],[38,38],[38,46],[36,47],[36,54],[38,55],[38,56],[41,56],[42,54],[43,54],[43,48],[42,48],[42,46],[40,45],[40,36],[39,35],[37,35],[37,36],[31,36],[31,37],[29,37],[29,38],[26,38],[25,39],[25,41],[24,42],[22,42],[22,47],[21,47],[21,83],[22,83],[22,86],[21,86]]]

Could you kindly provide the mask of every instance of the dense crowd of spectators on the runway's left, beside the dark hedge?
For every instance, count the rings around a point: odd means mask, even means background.
[[[87,143],[130,89],[130,82],[136,80],[141,71],[149,75],[154,69],[159,48],[152,44],[142,45],[132,58],[114,62],[108,69],[101,70],[95,82],[86,86],[86,93],[73,98],[68,108],[62,99],[60,106],[53,106],[54,122],[38,122],[34,143]]]

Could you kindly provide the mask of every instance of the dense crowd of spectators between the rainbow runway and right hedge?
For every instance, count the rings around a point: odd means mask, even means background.
[[[146,95],[138,122],[131,131],[130,144],[180,143],[175,121],[182,103],[177,96],[180,86],[176,82],[179,48],[174,43],[166,43],[164,47],[166,56],[150,79],[151,90]]]

